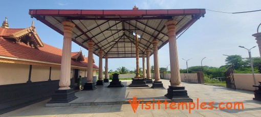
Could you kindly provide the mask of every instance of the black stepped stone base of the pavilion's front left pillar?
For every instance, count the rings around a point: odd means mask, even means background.
[[[52,99],[48,103],[68,103],[71,102],[78,97],[75,96],[74,90],[56,90],[54,95],[52,95]]]

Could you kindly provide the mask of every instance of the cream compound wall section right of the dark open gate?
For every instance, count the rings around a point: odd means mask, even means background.
[[[253,75],[252,74],[234,74],[235,87],[240,90],[251,90],[254,91],[255,88]],[[259,84],[258,81],[261,81],[261,74],[255,74],[256,84]]]

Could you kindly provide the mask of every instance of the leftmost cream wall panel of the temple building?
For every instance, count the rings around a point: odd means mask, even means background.
[[[0,63],[0,85],[26,83],[30,65]]]

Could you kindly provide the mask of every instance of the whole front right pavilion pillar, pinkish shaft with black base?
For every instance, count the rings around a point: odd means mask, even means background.
[[[168,43],[169,43],[169,57],[170,57],[170,86],[168,93],[165,95],[171,100],[177,102],[193,102],[188,97],[185,86],[181,86],[180,68],[178,60],[178,50],[176,41],[176,24],[177,21],[171,19],[166,22],[168,30]]]

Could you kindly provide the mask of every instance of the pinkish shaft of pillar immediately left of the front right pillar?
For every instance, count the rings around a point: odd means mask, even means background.
[[[158,57],[158,41],[153,40],[153,56],[154,56],[154,81],[160,80],[160,68],[159,68],[159,57]]]

